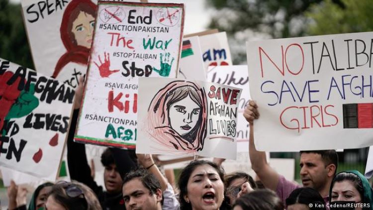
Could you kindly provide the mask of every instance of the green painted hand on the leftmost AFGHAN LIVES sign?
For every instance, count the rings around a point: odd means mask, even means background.
[[[21,91],[16,102],[11,106],[5,119],[19,118],[32,112],[38,105],[39,100],[34,96],[35,84],[30,84],[28,91]]]

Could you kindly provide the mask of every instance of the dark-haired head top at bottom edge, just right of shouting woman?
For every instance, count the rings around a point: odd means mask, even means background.
[[[275,192],[268,189],[255,190],[236,200],[233,207],[243,210],[283,210],[283,204]]]

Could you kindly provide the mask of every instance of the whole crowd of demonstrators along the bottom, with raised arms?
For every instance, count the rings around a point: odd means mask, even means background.
[[[338,156],[334,150],[300,152],[303,187],[271,168],[265,153],[254,145],[254,120],[259,118],[259,108],[253,101],[244,111],[250,125],[250,161],[266,189],[247,173],[226,175],[221,167],[224,159],[215,158],[213,162],[191,161],[182,170],[175,193],[152,155],[106,148],[101,155],[104,190],[93,179],[85,145],[73,141],[82,87],[76,94],[67,154],[73,181],[40,185],[32,195],[29,210],[326,210],[346,209],[346,205],[373,210],[368,180],[358,171],[336,174]],[[8,209],[26,209],[26,193],[12,182]]]

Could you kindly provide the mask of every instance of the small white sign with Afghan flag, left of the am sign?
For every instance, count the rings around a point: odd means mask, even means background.
[[[183,38],[178,78],[206,81],[198,36]]]

